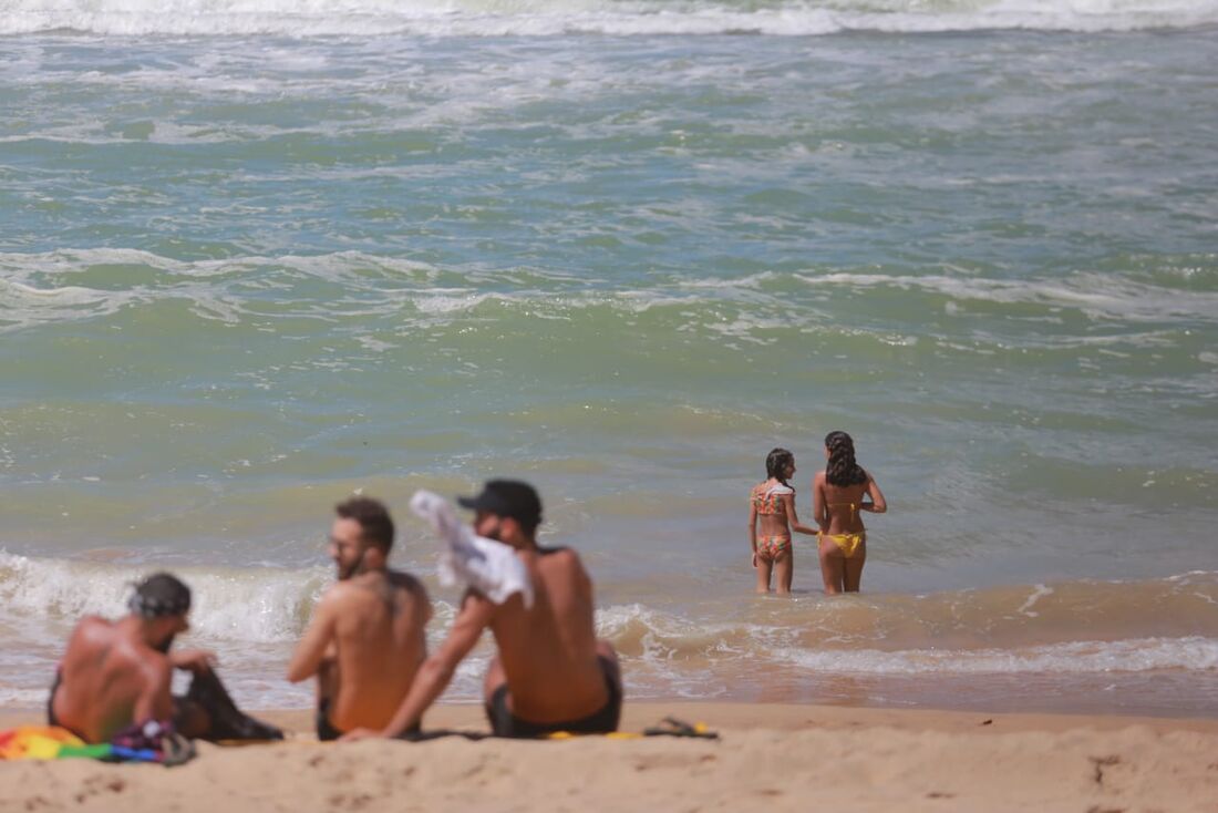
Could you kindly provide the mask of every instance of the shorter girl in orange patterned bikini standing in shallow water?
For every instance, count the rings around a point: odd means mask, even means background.
[[[816,531],[799,524],[795,514],[795,490],[787,483],[795,473],[795,456],[786,449],[775,449],[765,458],[765,473],[766,481],[753,486],[749,494],[749,546],[753,549],[753,567],[758,572],[758,592],[770,592],[770,574],[777,569],[778,595],[784,596],[790,592],[790,578],[794,573],[790,531]]]

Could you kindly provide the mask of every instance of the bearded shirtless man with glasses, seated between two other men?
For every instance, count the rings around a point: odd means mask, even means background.
[[[319,740],[389,723],[428,655],[431,618],[423,584],[387,568],[393,520],[385,506],[352,497],[335,513],[330,558],[339,581],[322,596],[287,667],[292,683],[317,675]]]

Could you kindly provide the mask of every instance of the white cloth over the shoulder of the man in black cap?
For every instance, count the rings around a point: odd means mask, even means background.
[[[497,605],[519,592],[525,607],[532,606],[529,569],[510,545],[477,536],[457,520],[453,507],[438,494],[419,490],[410,497],[410,511],[428,520],[447,545],[440,555],[440,584],[464,584]]]

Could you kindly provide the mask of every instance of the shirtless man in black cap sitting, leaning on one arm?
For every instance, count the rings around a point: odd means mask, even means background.
[[[397,736],[418,726],[487,627],[498,647],[484,683],[496,735],[615,731],[622,700],[618,655],[596,637],[592,580],[580,557],[566,547],[537,546],[537,492],[525,483],[491,480],[480,495],[459,502],[476,512],[476,534],[515,549],[529,570],[533,603],[525,607],[514,594],[496,605],[468,590],[448,639],[419,669],[393,719],[380,731],[352,733],[348,739]]]

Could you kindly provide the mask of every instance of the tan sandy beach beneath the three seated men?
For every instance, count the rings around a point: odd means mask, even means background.
[[[622,728],[666,714],[721,739],[320,745],[307,713],[275,712],[289,742],[201,744],[178,768],[0,765],[0,809],[1218,811],[1218,720],[652,702],[627,703]],[[473,706],[426,725],[486,730]]]

